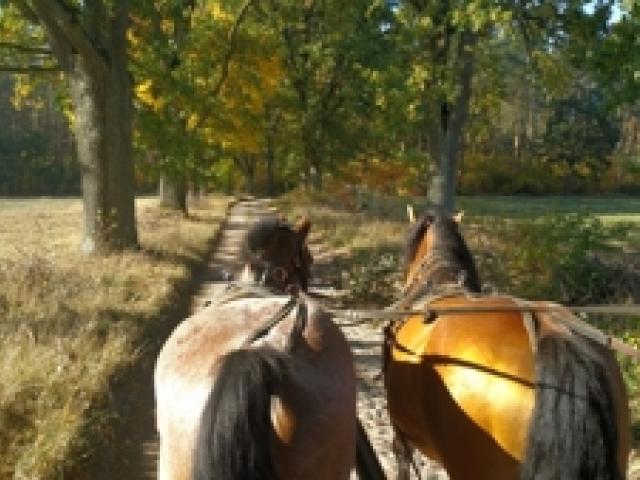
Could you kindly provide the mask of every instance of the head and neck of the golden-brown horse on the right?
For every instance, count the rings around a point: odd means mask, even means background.
[[[460,217],[427,212],[407,242],[406,285],[460,283],[473,292],[480,291],[475,262],[460,231]]]

